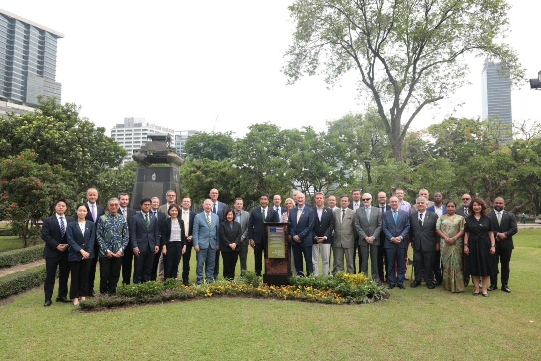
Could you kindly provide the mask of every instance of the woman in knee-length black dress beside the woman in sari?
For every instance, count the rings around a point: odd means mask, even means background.
[[[466,218],[464,253],[469,255],[468,273],[472,275],[475,292],[479,296],[479,277],[483,280],[483,297],[489,297],[487,288],[492,275],[492,254],[496,253],[494,232],[490,218],[486,215],[486,204],[476,198],[470,204],[470,216]]]

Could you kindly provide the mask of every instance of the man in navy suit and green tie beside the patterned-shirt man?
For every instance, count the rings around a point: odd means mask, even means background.
[[[128,225],[135,256],[134,284],[150,281],[154,254],[160,251],[160,229],[157,218],[150,214],[150,204],[150,199],[143,198],[141,213],[131,217]]]

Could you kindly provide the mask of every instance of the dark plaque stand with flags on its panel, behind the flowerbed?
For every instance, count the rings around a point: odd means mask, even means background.
[[[263,283],[273,286],[289,284],[289,241],[287,223],[265,224],[265,273]]]

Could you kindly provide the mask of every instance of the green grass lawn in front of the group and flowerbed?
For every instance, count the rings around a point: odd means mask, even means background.
[[[0,306],[0,355],[3,359],[538,359],[540,238],[538,229],[519,231],[511,258],[512,293],[494,291],[489,298],[471,296],[471,285],[460,294],[441,287],[408,286],[405,291],[392,290],[390,300],[363,306],[217,298],[81,312],[70,304],[43,307],[43,290],[34,290]],[[249,261],[253,270],[252,252]]]

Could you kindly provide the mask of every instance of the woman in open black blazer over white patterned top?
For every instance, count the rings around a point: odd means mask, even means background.
[[[163,268],[165,279],[177,278],[180,258],[186,252],[186,231],[179,219],[180,207],[169,207],[169,218],[162,222]]]

